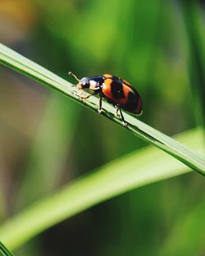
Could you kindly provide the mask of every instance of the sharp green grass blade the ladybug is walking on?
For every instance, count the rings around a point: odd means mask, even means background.
[[[21,56],[21,54],[16,53],[1,43],[0,62],[24,75],[30,76],[34,80],[39,80],[43,85],[56,89],[60,93],[65,94],[75,101],[92,108],[95,112],[98,112],[98,98],[91,97],[84,101],[84,103],[80,102],[79,97],[76,95],[77,89],[75,89],[71,83],[63,80],[61,77],[30,61],[26,57]],[[121,120],[115,116],[116,109],[112,107],[111,104],[103,103],[103,110],[102,115],[104,117],[110,118],[112,121],[116,121],[122,126]],[[148,143],[154,144],[157,148],[171,154],[171,156],[179,159],[187,166],[205,176],[205,161],[203,158],[200,158],[196,153],[190,152],[189,149],[186,149],[183,145],[179,144],[174,139],[171,139],[169,136],[163,135],[161,132],[144,124],[142,121],[131,117],[129,114],[125,113],[124,116],[125,120],[128,122],[128,126],[125,129],[130,130],[134,135],[146,140]]]

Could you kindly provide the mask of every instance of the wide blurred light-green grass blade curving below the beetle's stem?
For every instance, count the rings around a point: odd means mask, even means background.
[[[202,130],[180,135],[180,141],[203,152]],[[2,224],[0,239],[16,249],[39,232],[68,217],[143,185],[191,171],[153,146],[140,149],[73,181]]]

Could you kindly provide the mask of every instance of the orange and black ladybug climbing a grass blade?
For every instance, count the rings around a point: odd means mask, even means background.
[[[142,113],[142,98],[136,89],[126,80],[110,74],[94,75],[83,77],[82,79],[78,79],[71,71],[68,74],[74,76],[75,80],[79,82],[76,85],[78,89],[89,89],[93,91],[93,94],[99,95],[98,112],[102,112],[102,98],[106,98],[109,103],[112,103],[116,107],[116,115],[118,117],[121,116],[124,126],[126,126],[126,123],[121,109],[136,115]],[[86,99],[93,94],[80,98]]]

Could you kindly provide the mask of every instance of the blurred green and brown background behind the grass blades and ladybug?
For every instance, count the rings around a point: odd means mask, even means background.
[[[2,0],[0,41],[66,80],[112,73],[140,120],[175,135],[204,123],[203,1]],[[0,66],[0,221],[144,147],[115,123]],[[137,164],[137,163],[136,163]],[[205,255],[205,182],[148,185],[52,227],[16,255]]]

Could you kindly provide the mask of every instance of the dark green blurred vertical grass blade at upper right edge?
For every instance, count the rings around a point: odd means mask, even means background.
[[[198,1],[182,1],[185,30],[188,37],[189,47],[189,77],[192,94],[194,97],[195,117],[198,125],[205,124],[205,37],[203,10]]]

